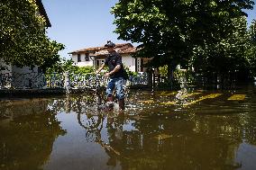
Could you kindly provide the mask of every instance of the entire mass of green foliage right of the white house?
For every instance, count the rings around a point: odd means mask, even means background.
[[[170,75],[181,64],[206,74],[249,76],[255,55],[243,9],[252,9],[253,4],[251,0],[120,0],[112,13],[119,39],[141,43],[135,57],[152,58],[149,66],[163,67],[163,74]]]

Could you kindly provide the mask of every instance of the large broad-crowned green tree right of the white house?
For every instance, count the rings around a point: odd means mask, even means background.
[[[142,43],[136,57],[169,66],[188,63],[195,47],[220,43],[233,34],[233,19],[246,15],[251,0],[120,0],[112,8],[119,39]]]

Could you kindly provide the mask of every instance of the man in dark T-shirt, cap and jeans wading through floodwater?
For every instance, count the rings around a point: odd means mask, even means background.
[[[105,76],[109,77],[109,81],[106,87],[107,100],[110,102],[109,110],[114,108],[114,88],[116,89],[116,95],[118,97],[119,110],[124,110],[124,91],[123,91],[123,64],[122,57],[114,50],[115,44],[107,40],[105,47],[108,51],[108,56],[105,58],[104,64],[96,70],[98,74],[103,67],[107,66],[109,68]]]

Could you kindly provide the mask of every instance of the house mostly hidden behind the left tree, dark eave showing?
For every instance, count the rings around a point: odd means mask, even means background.
[[[46,27],[50,27],[50,20],[43,4],[41,3],[41,0],[36,0],[35,2],[38,5],[38,14],[41,14],[44,17],[46,21]],[[16,67],[14,65],[6,65],[5,61],[0,58],[0,88],[11,86],[14,88],[36,87],[38,86],[35,85],[36,82],[39,81],[39,78],[42,78],[42,76],[38,76],[40,73],[41,68],[38,66]],[[10,81],[7,79],[10,79]]]

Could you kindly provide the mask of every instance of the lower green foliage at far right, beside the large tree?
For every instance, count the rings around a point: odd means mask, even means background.
[[[251,38],[247,31],[245,17],[235,18],[232,21],[233,32],[215,43],[205,42],[196,46],[190,60],[191,67],[196,71],[207,75],[213,73],[216,76],[228,76],[241,74],[243,78],[251,76],[251,63],[253,57],[251,51]],[[213,75],[212,75],[213,76]]]

